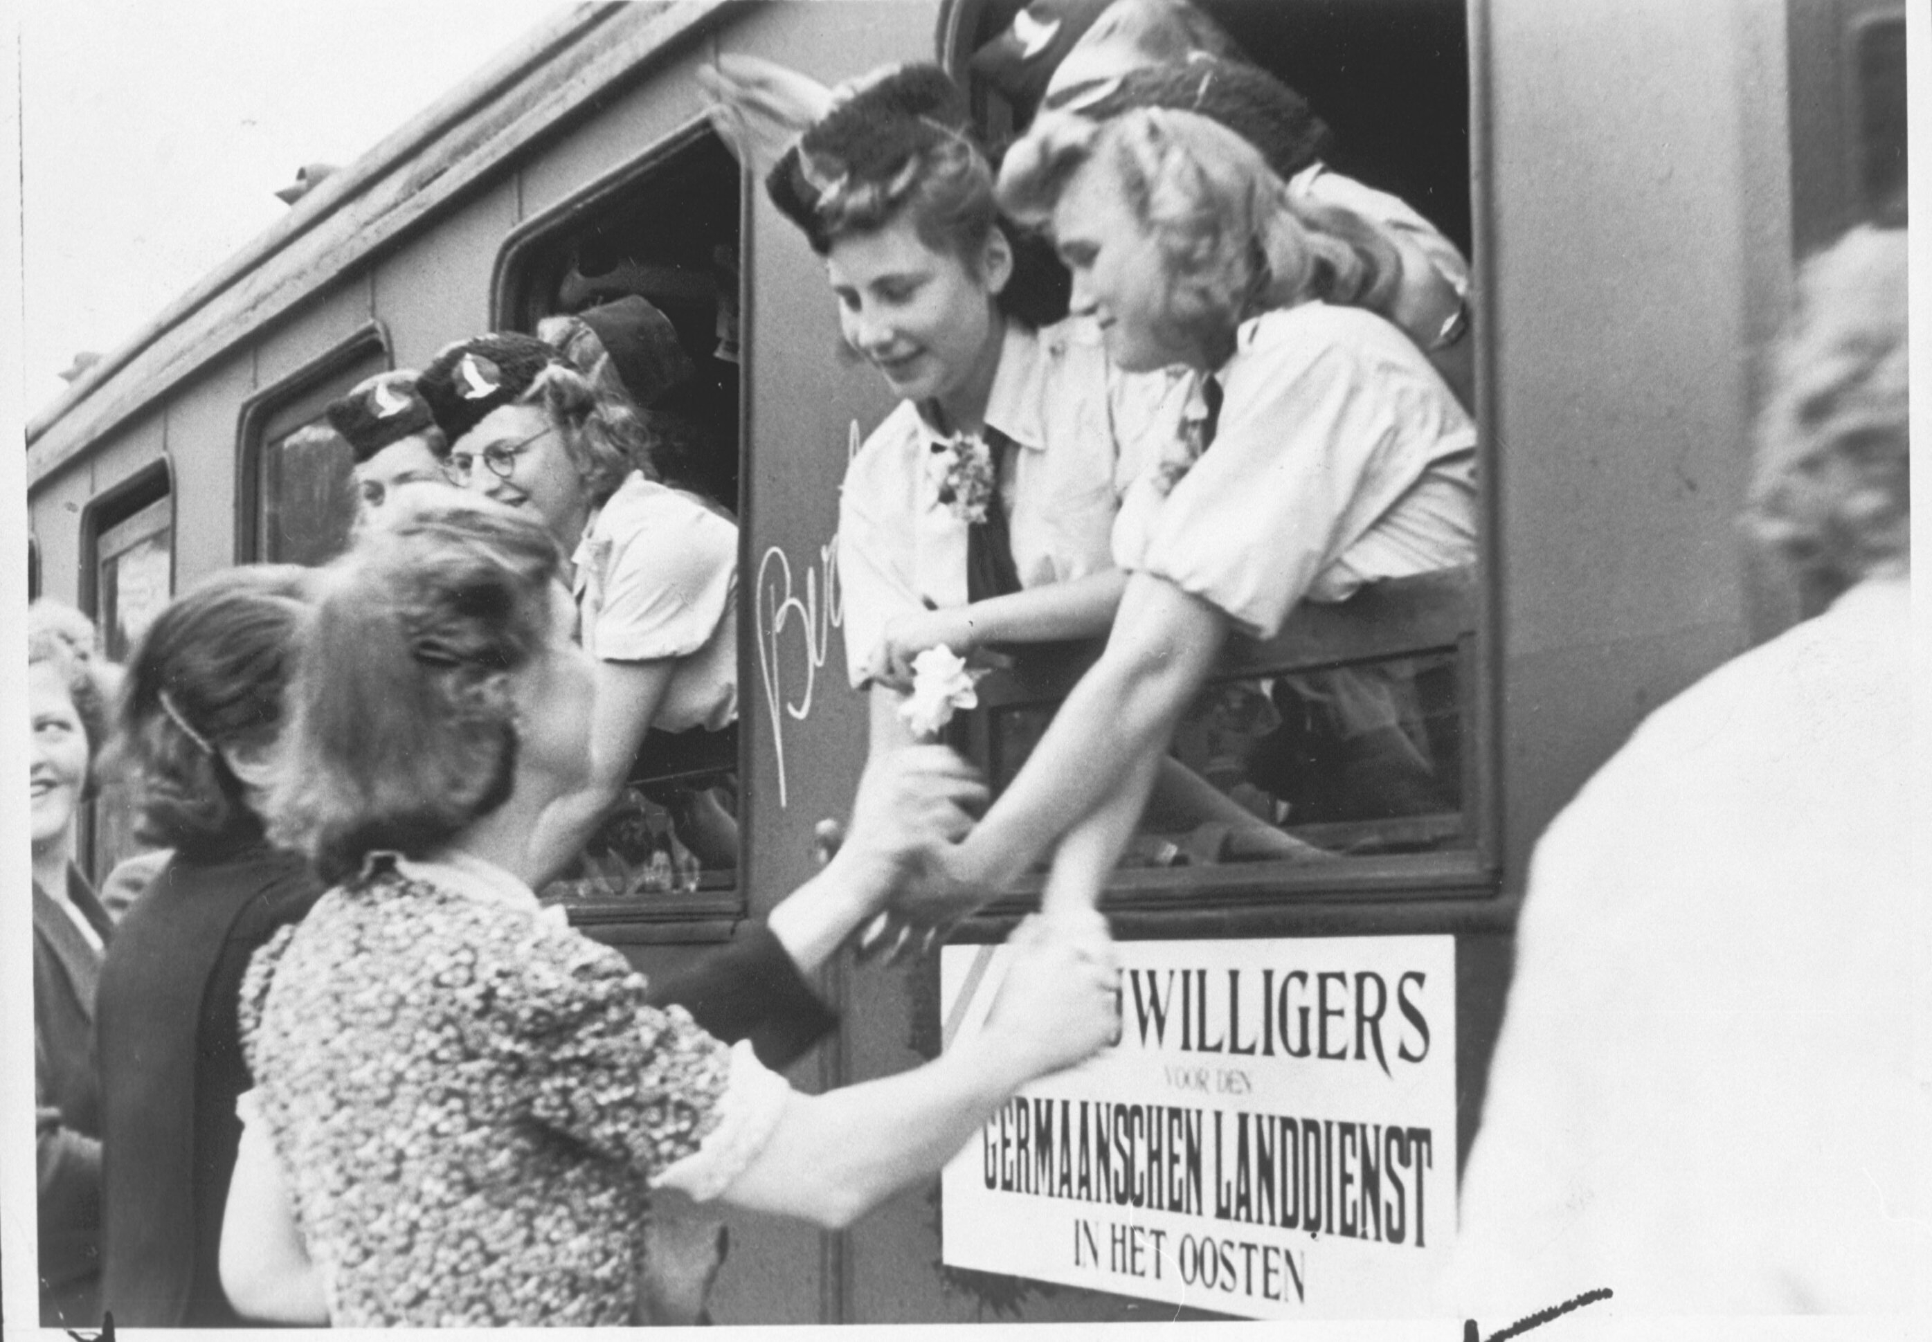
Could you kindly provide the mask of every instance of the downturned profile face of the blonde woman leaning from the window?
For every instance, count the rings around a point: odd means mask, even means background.
[[[1111,164],[1088,158],[1066,180],[1053,207],[1053,238],[1072,270],[1072,311],[1099,324],[1121,369],[1208,367],[1200,342],[1169,317],[1167,259],[1134,216]]]

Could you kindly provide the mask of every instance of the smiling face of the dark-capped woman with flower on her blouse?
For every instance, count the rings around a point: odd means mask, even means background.
[[[1012,251],[995,228],[980,266],[920,238],[910,212],[831,245],[825,272],[846,344],[885,375],[895,396],[937,400],[952,421],[974,421],[999,367],[1005,330],[995,295]],[[980,400],[980,405],[970,404]]]

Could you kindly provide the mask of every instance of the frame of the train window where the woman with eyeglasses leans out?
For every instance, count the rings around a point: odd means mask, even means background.
[[[554,205],[531,214],[522,220],[504,238],[497,251],[495,266],[491,268],[491,326],[495,330],[535,330],[541,317],[549,313],[535,313],[541,305],[535,299],[533,270],[545,257],[545,249],[554,245],[562,236],[585,226],[601,209],[612,209],[618,199],[628,197],[638,187],[645,185],[653,178],[674,170],[686,154],[696,151],[707,139],[715,141],[717,131],[711,127],[709,118],[694,116],[676,127],[672,127],[663,137],[645,145],[638,154],[626,158],[614,168],[593,178],[585,185],[578,187]],[[719,141],[723,143],[723,141]],[[740,322],[750,311],[750,292],[746,282],[746,253],[750,247],[752,234],[752,176],[738,170],[738,313]],[[738,498],[732,500],[734,510],[742,516],[744,510],[744,481],[750,473],[750,434],[746,425],[750,423],[750,378],[738,378]],[[746,527],[738,529],[738,572],[750,572],[750,533]],[[740,684],[746,682],[746,674],[752,672],[748,658],[752,649],[755,649],[753,629],[750,628],[750,602],[738,602],[738,678]],[[740,732],[738,740],[738,778],[752,776],[750,745],[746,734]],[[570,923],[591,931],[599,940],[612,944],[688,944],[688,942],[724,942],[730,940],[734,929],[752,915],[750,888],[744,882],[744,873],[750,865],[752,852],[752,819],[757,811],[757,797],[750,790],[740,788],[738,794],[738,867],[736,881],[730,888],[697,890],[697,892],[665,892],[651,894],[647,898],[611,898],[611,900],[568,900],[560,904],[566,909]]]

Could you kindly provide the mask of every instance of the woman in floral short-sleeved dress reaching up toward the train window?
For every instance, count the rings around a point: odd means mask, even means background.
[[[243,1313],[628,1323],[653,1188],[842,1226],[1111,1039],[1105,938],[1041,929],[983,1035],[817,1097],[649,1006],[527,884],[593,701],[554,545],[446,490],[396,512],[328,573],[292,691],[270,811],[336,886],[243,983]]]

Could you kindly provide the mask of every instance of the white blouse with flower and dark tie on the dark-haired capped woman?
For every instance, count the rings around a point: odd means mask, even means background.
[[[1113,568],[1121,490],[1167,450],[1184,400],[1175,377],[1115,369],[1088,321],[1007,326],[985,423],[1014,444],[1001,504],[1022,587]],[[966,604],[968,523],[939,502],[929,467],[947,444],[918,405],[900,402],[846,467],[838,585],[854,687],[889,620]]]

